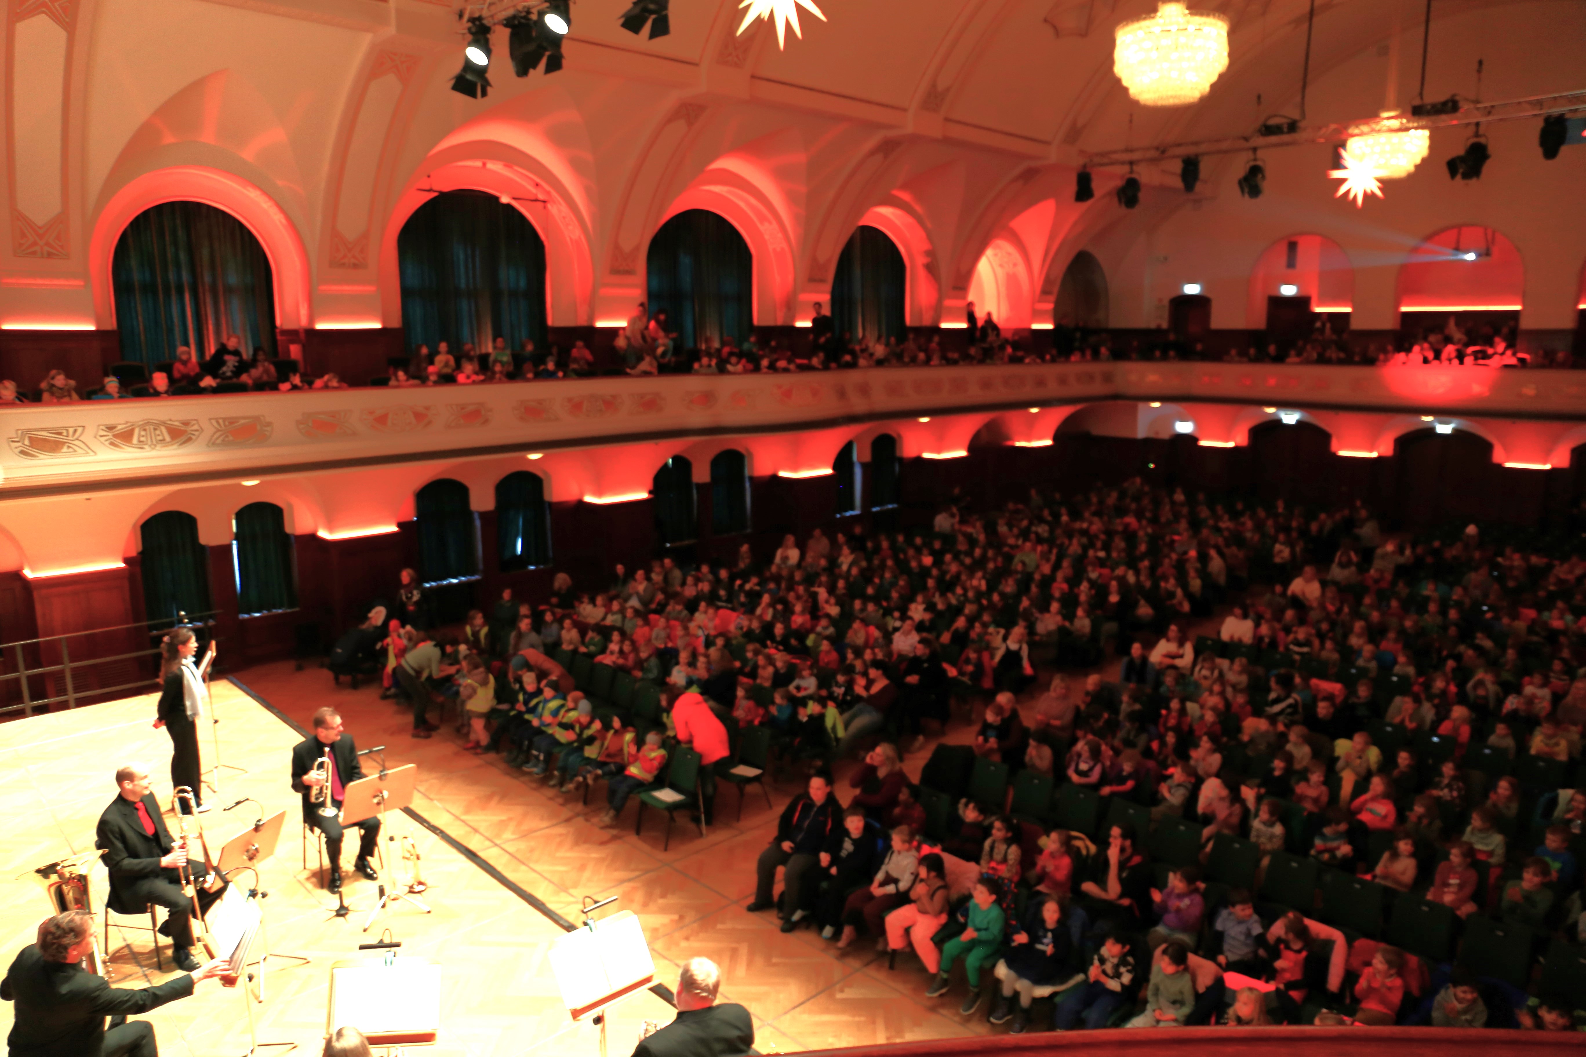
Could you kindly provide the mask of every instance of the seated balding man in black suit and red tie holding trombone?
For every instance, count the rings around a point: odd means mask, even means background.
[[[121,796],[100,815],[94,840],[94,845],[105,853],[109,886],[125,905],[141,908],[144,903],[155,903],[165,908],[167,919],[160,932],[176,944],[171,960],[178,968],[192,973],[198,968],[198,959],[192,954],[193,903],[192,897],[182,892],[181,868],[190,865],[193,872],[201,911],[208,911],[209,903],[220,897],[225,881],[219,881],[213,892],[205,891],[203,856],[189,864],[189,849],[171,840],[171,830],[160,818],[160,803],[149,792],[147,767],[124,765],[116,772],[116,784],[121,788]]]

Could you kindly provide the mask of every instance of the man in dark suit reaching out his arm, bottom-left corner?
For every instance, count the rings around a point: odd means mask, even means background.
[[[16,1022],[6,1043],[11,1057],[155,1057],[154,1025],[127,1024],[136,1016],[186,998],[193,984],[220,976],[230,967],[224,959],[190,975],[141,990],[111,987],[98,973],[82,968],[94,949],[94,914],[68,910],[46,918],[38,927],[38,943],[22,948],[0,981],[0,998],[16,1003]],[[114,1027],[105,1028],[105,1017]]]

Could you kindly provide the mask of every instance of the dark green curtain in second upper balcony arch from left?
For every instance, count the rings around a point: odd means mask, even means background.
[[[396,235],[401,323],[411,345],[463,342],[481,353],[546,345],[546,244],[514,206],[476,190],[449,190],[419,206]],[[482,366],[482,364],[481,364]]]

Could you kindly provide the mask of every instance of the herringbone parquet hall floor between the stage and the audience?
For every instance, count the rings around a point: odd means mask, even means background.
[[[390,765],[419,764],[416,808],[563,916],[574,916],[585,895],[617,895],[619,906],[644,922],[658,971],[668,984],[676,981],[676,964],[695,956],[714,959],[722,965],[723,1000],[741,1002],[750,1009],[761,1052],[1002,1030],[986,1024],[985,1006],[974,1017],[958,1014],[961,984],[942,998],[926,998],[926,975],[912,954],[901,954],[898,967],[888,970],[874,940],[837,951],[810,929],[785,935],[777,929],[776,914],[744,911],[755,889],[755,857],[771,841],[777,815],[798,789],[793,780],[772,784],[771,808],[758,791],[750,791],[742,821],[737,821],[737,792],[723,783],[717,794],[717,824],[709,835],[701,837],[679,818],[671,848],[663,851],[665,819],[657,813],[647,813],[644,830],[634,835],[638,807],[630,802],[617,829],[600,829],[593,821],[604,810],[604,786],[584,807],[576,796],[547,792],[541,780],[509,770],[500,756],[463,753],[465,738],[450,727],[430,740],[414,740],[409,737],[411,713],[381,700],[374,686],[354,691],[344,680],[338,688],[327,672],[297,672],[290,662],[259,666],[236,678],[303,724],[320,705],[335,705],[360,748],[384,743]],[[950,740],[967,737],[964,724],[948,735]],[[928,750],[907,757],[912,775],[918,777]],[[165,756],[159,759],[163,762]],[[284,753],[279,769],[282,791],[273,796],[284,802],[290,796]],[[847,799],[852,791],[845,773],[839,770],[837,778],[841,796]],[[298,865],[295,854],[293,867]],[[449,900],[449,889],[435,892],[436,903]],[[503,894],[493,905],[506,902],[519,900]],[[511,940],[498,941],[493,957],[514,964],[512,951],[519,946],[525,948],[527,959],[530,944]],[[503,995],[485,1014],[479,1028],[484,1032],[490,1030],[485,1025],[492,1017],[511,1017],[517,1003],[504,998],[509,992],[495,979],[479,987],[484,994]],[[655,1002],[649,995],[646,1000]],[[660,1019],[665,1022],[669,1016]],[[630,1052],[631,1038],[631,1032],[619,1032],[614,1019],[612,1055]]]

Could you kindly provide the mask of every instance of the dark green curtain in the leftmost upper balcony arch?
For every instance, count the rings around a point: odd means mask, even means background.
[[[200,360],[238,334],[243,349],[276,355],[270,258],[232,214],[201,201],[144,209],[109,265],[121,358],[155,364],[192,345]]]

